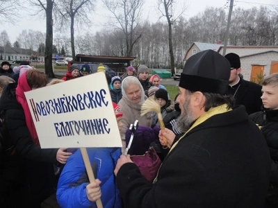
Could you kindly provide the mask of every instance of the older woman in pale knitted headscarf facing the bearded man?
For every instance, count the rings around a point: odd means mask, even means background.
[[[144,89],[138,78],[128,76],[122,81],[122,99],[118,103],[123,112],[121,138],[123,150],[126,148],[125,134],[131,123],[138,120],[139,125],[150,127],[152,125],[152,113],[140,116],[141,106],[147,99]]]

